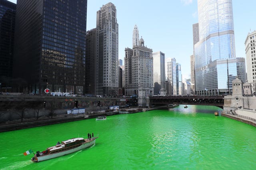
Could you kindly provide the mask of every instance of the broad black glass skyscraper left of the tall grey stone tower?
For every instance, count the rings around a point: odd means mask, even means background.
[[[14,76],[24,92],[83,94],[87,0],[18,0]]]

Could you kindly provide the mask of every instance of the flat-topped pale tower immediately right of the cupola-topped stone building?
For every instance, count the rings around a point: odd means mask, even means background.
[[[153,53],[154,70],[154,94],[160,94],[160,90],[165,87],[165,55],[161,51]]]

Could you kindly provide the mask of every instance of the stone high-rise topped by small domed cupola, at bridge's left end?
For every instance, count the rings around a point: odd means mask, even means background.
[[[144,98],[152,95],[154,90],[152,49],[144,46],[142,38],[139,45],[135,45],[133,49],[125,49],[124,62],[125,95],[138,95]]]

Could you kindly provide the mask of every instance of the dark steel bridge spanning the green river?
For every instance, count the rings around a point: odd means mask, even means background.
[[[205,105],[217,106],[223,109],[224,96],[151,96],[150,104],[185,104],[185,105]]]

